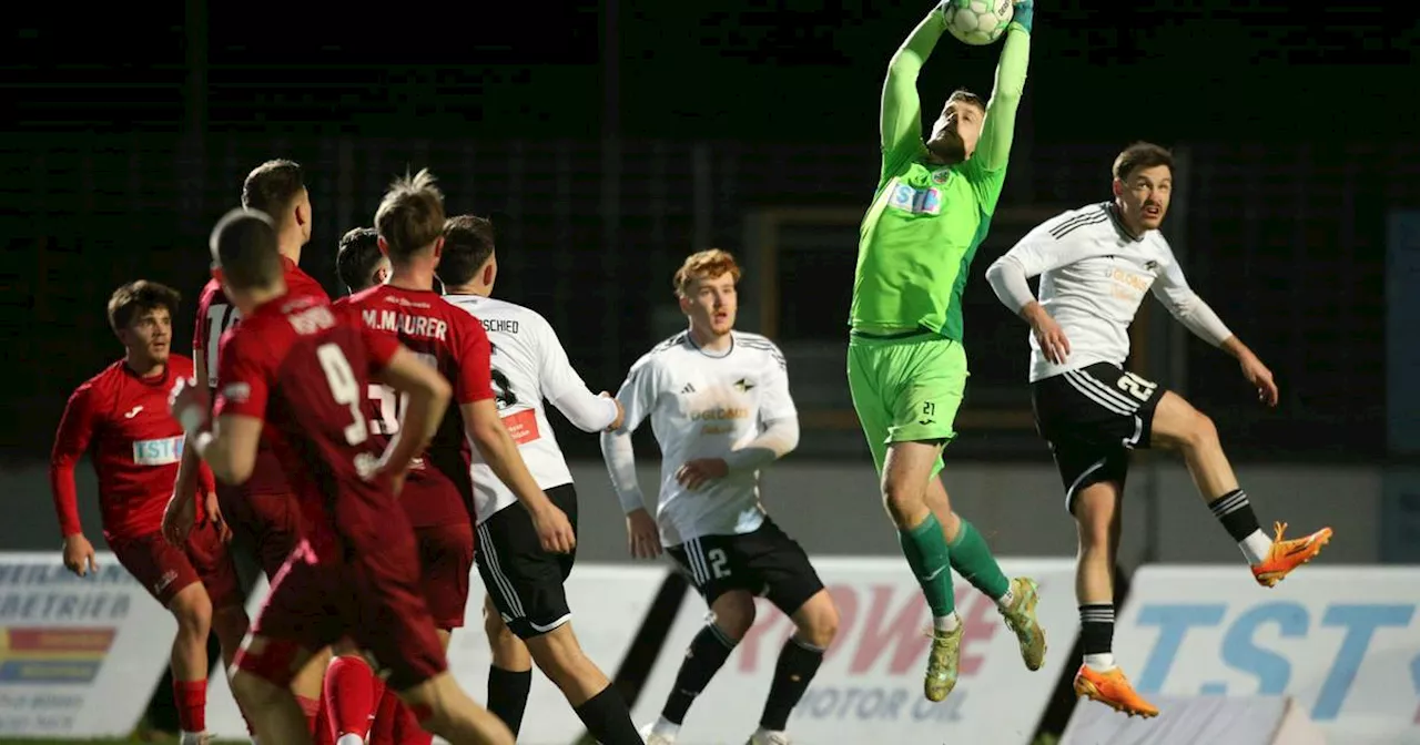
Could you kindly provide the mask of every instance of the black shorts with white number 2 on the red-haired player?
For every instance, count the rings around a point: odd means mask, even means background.
[[[747,590],[792,616],[824,589],[804,548],[768,517],[753,532],[701,535],[666,551],[710,606],[730,590]]]

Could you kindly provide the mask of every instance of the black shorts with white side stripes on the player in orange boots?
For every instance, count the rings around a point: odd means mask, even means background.
[[[1129,451],[1147,448],[1164,389],[1108,362],[1031,385],[1035,429],[1051,443],[1065,485],[1065,508],[1085,487],[1129,474]]]

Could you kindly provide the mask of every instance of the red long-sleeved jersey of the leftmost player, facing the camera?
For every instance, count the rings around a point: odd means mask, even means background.
[[[62,535],[82,532],[74,465],[92,447],[105,538],[141,538],[162,528],[182,461],[182,426],[168,413],[168,396],[192,377],[192,359],[169,355],[163,372],[139,377],[124,360],[74,390],[50,454],[50,490]],[[203,463],[202,494],[213,487]],[[199,502],[200,504],[200,502]]]

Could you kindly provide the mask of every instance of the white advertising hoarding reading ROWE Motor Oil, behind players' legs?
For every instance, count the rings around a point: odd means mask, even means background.
[[[966,623],[961,674],[940,704],[922,695],[932,616],[906,561],[818,558],[814,566],[841,620],[824,666],[790,718],[794,742],[1031,742],[1079,634],[1074,561],[1001,559],[1008,576],[1031,576],[1041,585],[1039,619],[1049,649],[1035,673],[1021,661],[995,603],[957,580],[957,613]],[[758,725],[780,647],[792,633],[782,613],[767,600],[758,603],[754,627],[696,700],[677,745],[738,745]],[[697,596],[682,606],[636,704],[638,725],[659,715],[706,616]]]

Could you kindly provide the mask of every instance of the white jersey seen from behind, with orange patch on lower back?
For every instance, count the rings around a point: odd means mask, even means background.
[[[586,389],[586,383],[572,369],[551,324],[537,311],[483,295],[444,295],[444,299],[473,314],[488,333],[493,348],[493,393],[498,413],[513,441],[518,444],[532,480],[542,490],[571,484],[572,471],[552,434],[542,400],[551,400],[559,407],[565,402],[575,402],[585,409],[585,399],[596,399],[596,394]],[[616,404],[611,399],[601,399],[598,403],[601,406],[594,407],[608,412],[608,416],[605,421],[591,423],[595,427],[592,431],[609,426],[616,417]],[[564,413],[568,412],[564,409]],[[568,419],[572,416],[568,414]],[[574,423],[584,426],[577,420]],[[474,505],[481,525],[497,511],[515,502],[517,497],[483,463],[479,448],[471,450]]]

